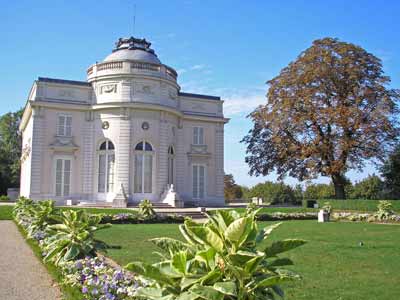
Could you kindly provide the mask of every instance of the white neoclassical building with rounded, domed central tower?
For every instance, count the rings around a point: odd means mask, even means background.
[[[223,101],[181,92],[177,77],[133,37],[90,66],[87,82],[39,77],[20,125],[21,195],[223,205]]]

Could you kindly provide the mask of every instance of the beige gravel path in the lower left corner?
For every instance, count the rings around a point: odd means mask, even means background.
[[[0,299],[62,299],[59,288],[12,221],[0,221]]]

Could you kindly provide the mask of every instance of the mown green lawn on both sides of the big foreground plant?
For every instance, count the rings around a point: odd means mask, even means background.
[[[146,224],[113,225],[96,236],[114,247],[108,256],[125,265],[135,260],[155,262],[152,252],[158,249],[147,240],[180,234],[177,225]],[[285,287],[285,299],[398,299],[400,226],[289,221],[272,235],[272,239],[283,238],[308,240],[285,255],[295,262],[291,269],[303,276]]]

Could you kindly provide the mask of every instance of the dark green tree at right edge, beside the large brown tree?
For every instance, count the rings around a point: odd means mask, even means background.
[[[381,168],[381,172],[389,196],[400,199],[400,144],[389,155]]]

